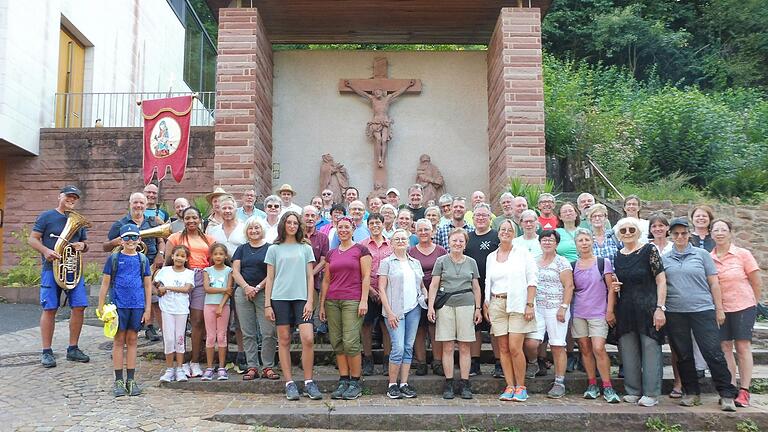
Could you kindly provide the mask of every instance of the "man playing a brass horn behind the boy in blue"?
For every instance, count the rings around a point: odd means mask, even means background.
[[[146,216],[147,197],[141,192],[132,193],[128,199],[128,203],[128,215],[112,224],[109,233],[107,233],[108,240],[102,244],[102,249],[104,252],[111,252],[113,249],[120,246],[120,228],[127,224],[134,224],[139,227],[139,231],[142,233],[141,240],[146,246],[146,250],[143,251],[143,253],[147,256],[149,262],[152,263],[152,270],[157,270],[163,266],[165,240],[162,237],[147,236],[145,233],[147,233],[148,230],[161,225],[163,220],[156,216]],[[152,213],[154,213],[154,211]],[[159,341],[162,339],[160,335],[157,334],[157,329],[162,328],[162,322],[160,322],[160,308],[157,302],[157,296],[153,295],[152,320],[157,322],[157,326],[154,325],[154,322],[146,323],[147,329],[144,332],[146,338],[151,341]]]

